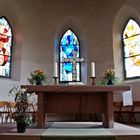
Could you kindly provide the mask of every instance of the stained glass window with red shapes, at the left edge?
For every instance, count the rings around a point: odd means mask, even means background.
[[[0,77],[10,77],[12,31],[8,21],[0,18]]]

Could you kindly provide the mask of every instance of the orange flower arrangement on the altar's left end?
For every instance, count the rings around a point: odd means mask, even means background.
[[[30,84],[42,85],[46,79],[46,75],[42,70],[35,70],[30,73],[31,78],[28,78]]]

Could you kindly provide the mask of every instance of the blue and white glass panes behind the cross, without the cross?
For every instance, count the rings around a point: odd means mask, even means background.
[[[72,81],[73,64],[64,62],[64,59],[73,57],[72,51],[76,52],[76,57],[79,58],[79,42],[77,36],[71,30],[67,30],[60,41],[60,82]],[[76,81],[80,80],[80,65],[77,62],[76,66]]]

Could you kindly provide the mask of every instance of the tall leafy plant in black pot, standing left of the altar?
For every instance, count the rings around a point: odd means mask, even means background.
[[[27,95],[26,89],[20,87],[13,87],[9,91],[9,95],[15,98],[15,112],[12,113],[12,117],[17,122],[17,132],[22,133],[26,131],[32,121],[28,114],[29,112],[29,97],[32,94]]]

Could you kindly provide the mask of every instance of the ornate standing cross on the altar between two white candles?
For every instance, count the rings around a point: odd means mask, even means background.
[[[76,63],[83,62],[84,58],[77,58],[76,51],[72,51],[72,58],[64,58],[63,62],[72,63],[72,81],[76,81]]]

